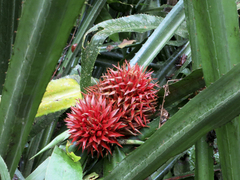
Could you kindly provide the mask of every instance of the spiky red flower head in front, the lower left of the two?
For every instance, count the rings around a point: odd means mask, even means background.
[[[119,121],[122,112],[113,103],[97,93],[79,99],[65,120],[71,134],[70,139],[92,155],[97,151],[98,156],[99,153],[103,156],[104,149],[111,153],[110,144],[121,146],[117,137],[123,135],[118,131],[126,125]]]

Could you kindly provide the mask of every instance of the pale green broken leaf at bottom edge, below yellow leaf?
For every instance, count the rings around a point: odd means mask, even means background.
[[[55,146],[46,171],[46,180],[79,180],[82,179],[80,162],[73,162],[66,153]]]

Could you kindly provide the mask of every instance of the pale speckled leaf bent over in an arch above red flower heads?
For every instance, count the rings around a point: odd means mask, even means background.
[[[91,42],[87,44],[82,52],[80,81],[82,92],[84,92],[86,87],[90,86],[91,73],[100,51],[99,47],[108,36],[119,32],[146,32],[156,28],[161,21],[162,18],[160,17],[138,14],[107,20],[89,29],[84,35],[84,39],[91,32],[97,31],[97,33],[92,37]]]

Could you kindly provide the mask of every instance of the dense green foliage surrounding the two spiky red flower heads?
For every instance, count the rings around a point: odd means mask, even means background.
[[[237,4],[0,0],[0,178],[237,179]],[[119,138],[123,148],[92,157],[67,143],[64,119],[125,60],[153,71],[158,111],[141,134]]]

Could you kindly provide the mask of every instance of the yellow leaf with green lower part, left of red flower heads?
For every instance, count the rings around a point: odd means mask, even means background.
[[[74,106],[81,99],[80,86],[75,80],[79,76],[67,76],[52,80],[47,86],[42,102],[38,108],[28,139],[48,127],[52,121]]]

